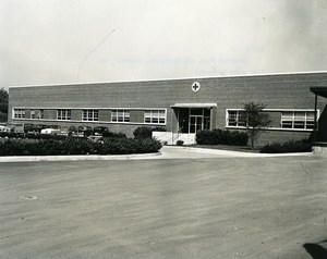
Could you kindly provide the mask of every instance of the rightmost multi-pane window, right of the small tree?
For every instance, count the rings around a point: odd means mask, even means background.
[[[281,113],[282,128],[313,130],[315,125],[314,111],[284,111]]]

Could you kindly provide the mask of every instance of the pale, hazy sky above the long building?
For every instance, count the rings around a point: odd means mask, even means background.
[[[0,88],[327,71],[327,0],[0,0]]]

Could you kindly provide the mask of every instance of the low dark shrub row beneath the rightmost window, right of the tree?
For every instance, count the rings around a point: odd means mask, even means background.
[[[271,143],[261,148],[261,152],[282,153],[282,152],[311,152],[312,145],[308,139],[290,140],[283,144]]]

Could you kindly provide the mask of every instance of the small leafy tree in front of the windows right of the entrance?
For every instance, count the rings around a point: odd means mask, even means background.
[[[265,108],[266,106],[263,103],[250,102],[244,104],[244,122],[252,149],[261,132],[264,132],[271,122],[269,114],[263,111]]]

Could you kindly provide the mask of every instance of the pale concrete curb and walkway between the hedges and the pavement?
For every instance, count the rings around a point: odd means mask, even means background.
[[[157,153],[138,155],[81,155],[81,156],[17,156],[0,157],[0,162],[35,162],[35,161],[101,161],[101,160],[146,160],[146,159],[196,159],[196,158],[270,158],[312,156],[312,152],[299,153],[253,153],[207,148],[164,146]]]

